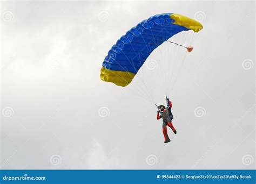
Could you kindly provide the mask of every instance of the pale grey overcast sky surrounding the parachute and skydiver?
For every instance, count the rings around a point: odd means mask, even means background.
[[[99,73],[118,38],[167,12],[204,29],[173,88],[178,133],[164,144],[154,104]],[[254,168],[254,34],[254,1],[1,2],[1,167]]]

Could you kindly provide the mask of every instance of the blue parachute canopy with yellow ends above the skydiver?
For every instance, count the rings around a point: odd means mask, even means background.
[[[143,20],[112,46],[100,69],[100,79],[125,87],[154,49],[179,32],[201,29],[203,25],[196,20],[174,13]]]

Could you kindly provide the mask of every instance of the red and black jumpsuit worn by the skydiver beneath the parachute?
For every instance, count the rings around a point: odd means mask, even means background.
[[[165,143],[168,143],[171,141],[167,134],[167,126],[169,126],[175,134],[177,133],[176,129],[172,125],[172,119],[173,119],[173,115],[171,112],[172,102],[168,101],[168,103],[169,104],[167,105],[167,108],[165,108],[163,112],[160,112],[160,116],[159,116],[159,112],[157,113],[157,119],[163,118],[163,133],[164,133]]]

